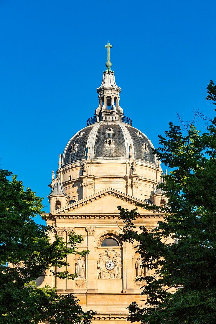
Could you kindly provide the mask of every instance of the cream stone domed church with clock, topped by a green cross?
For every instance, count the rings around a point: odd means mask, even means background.
[[[68,141],[59,155],[56,178],[53,172],[48,196],[48,225],[67,241],[69,231],[81,234],[79,246],[90,250],[86,258],[68,256],[68,272],[76,272],[75,280],[54,278],[46,273],[41,286],[55,286],[60,294],[73,292],[85,310],[97,311],[93,323],[125,323],[126,307],[140,304],[140,287],[136,281],[146,275],[135,243],[122,242],[123,224],[117,206],[129,210],[137,204],[164,205],[166,198],[157,189],[162,169],[152,153],[148,137],[132,125],[120,107],[121,88],[115,83],[109,50],[102,84],[97,88],[99,105],[87,126]],[[137,227],[149,230],[163,217],[160,211],[138,207]]]

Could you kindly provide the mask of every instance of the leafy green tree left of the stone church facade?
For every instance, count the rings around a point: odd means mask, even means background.
[[[82,236],[70,233],[68,246],[56,236],[51,244],[46,232],[52,228],[33,219],[43,213],[42,199],[11,176],[0,170],[0,323],[90,323],[94,313],[84,312],[73,294],[57,295],[55,288],[35,284],[44,270],[67,265],[66,256],[77,253]],[[76,277],[67,271],[53,274]]]

